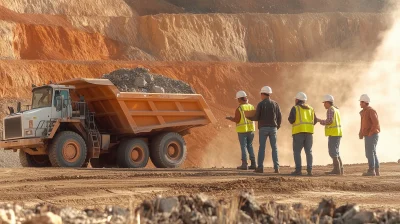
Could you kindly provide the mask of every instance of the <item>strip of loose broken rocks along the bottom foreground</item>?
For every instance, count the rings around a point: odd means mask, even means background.
[[[0,205],[0,223],[399,223],[399,210],[361,210],[358,205],[336,207],[323,199],[313,210],[302,204],[285,205],[273,201],[259,204],[254,194],[242,192],[232,200],[211,200],[204,194],[157,197],[137,208],[117,206],[104,210],[78,210],[39,204],[24,208],[18,204]]]

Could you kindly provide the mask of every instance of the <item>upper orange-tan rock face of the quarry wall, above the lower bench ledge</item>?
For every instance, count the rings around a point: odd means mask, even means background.
[[[365,13],[72,16],[65,19],[74,28],[0,21],[0,32],[5,37],[0,45],[0,58],[239,62],[369,60],[379,44],[380,31],[389,25],[386,15]]]

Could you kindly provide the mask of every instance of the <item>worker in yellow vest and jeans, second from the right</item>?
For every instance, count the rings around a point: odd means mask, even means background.
[[[323,104],[326,112],[326,120],[317,119],[321,125],[325,126],[325,136],[328,136],[328,151],[329,156],[333,161],[333,169],[330,172],[326,172],[329,175],[343,175],[343,163],[339,155],[340,140],[342,139],[342,126],[340,122],[339,108],[334,104],[334,98],[332,95],[325,95],[323,98]]]

